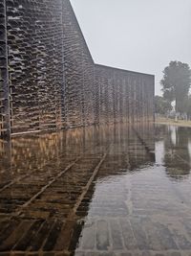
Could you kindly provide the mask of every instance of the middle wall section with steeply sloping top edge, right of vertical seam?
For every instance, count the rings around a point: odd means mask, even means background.
[[[71,3],[63,1],[66,127],[94,124],[94,60]]]

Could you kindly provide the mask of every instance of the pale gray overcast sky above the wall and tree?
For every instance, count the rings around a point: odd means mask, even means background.
[[[191,66],[191,0],[71,0],[96,63],[156,75]]]

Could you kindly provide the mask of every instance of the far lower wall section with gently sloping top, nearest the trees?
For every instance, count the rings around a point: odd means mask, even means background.
[[[154,120],[154,76],[96,64],[96,123]]]

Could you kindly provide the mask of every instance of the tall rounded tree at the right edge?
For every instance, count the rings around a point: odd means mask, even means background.
[[[162,85],[164,99],[175,101],[176,112],[186,112],[188,92],[191,85],[191,70],[188,64],[171,61],[163,70]]]

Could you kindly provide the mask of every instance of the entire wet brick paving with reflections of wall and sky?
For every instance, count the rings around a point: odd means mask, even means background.
[[[191,256],[191,128],[0,141],[0,255]]]

